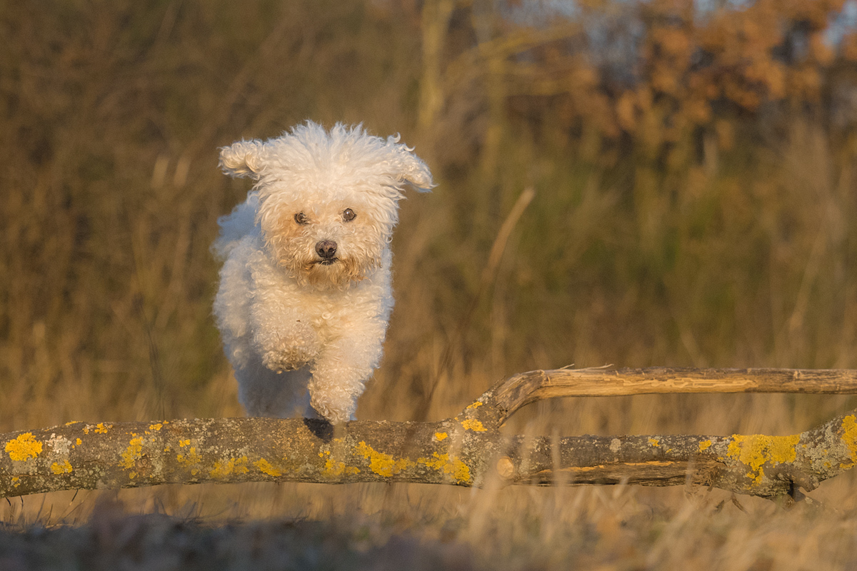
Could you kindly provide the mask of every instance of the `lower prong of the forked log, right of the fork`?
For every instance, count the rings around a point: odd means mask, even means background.
[[[557,461],[557,455],[559,461]],[[633,436],[536,439],[518,452],[515,483],[713,486],[760,497],[812,491],[857,462],[857,415],[790,436]],[[529,460],[526,460],[529,457]],[[506,464],[509,467],[510,464]]]

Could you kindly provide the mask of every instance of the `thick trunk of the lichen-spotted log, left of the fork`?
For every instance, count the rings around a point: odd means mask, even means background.
[[[448,421],[334,427],[261,418],[75,422],[0,436],[6,452],[0,457],[0,497],[268,480],[471,485],[482,472],[476,444],[463,428],[454,428]],[[480,448],[486,443],[477,440]]]

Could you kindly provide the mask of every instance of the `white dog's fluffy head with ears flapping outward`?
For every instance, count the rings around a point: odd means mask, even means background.
[[[434,186],[428,167],[399,143],[338,123],[314,122],[267,141],[220,149],[227,175],[257,183],[257,222],[279,265],[304,285],[345,288],[381,265],[411,186]]]

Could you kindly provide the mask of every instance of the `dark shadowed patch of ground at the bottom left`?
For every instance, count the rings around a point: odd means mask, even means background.
[[[93,519],[84,526],[0,526],[0,569],[30,571],[247,571],[474,569],[461,544],[393,535],[381,544],[359,529],[320,521],[210,526],[159,515]]]

